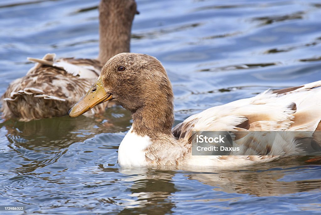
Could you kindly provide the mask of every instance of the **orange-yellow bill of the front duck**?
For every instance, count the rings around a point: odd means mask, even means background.
[[[68,116],[80,116],[96,105],[111,99],[113,99],[112,94],[105,91],[101,80],[98,79],[98,81],[88,90],[86,95],[84,95],[82,99],[80,99],[74,107],[69,110]]]

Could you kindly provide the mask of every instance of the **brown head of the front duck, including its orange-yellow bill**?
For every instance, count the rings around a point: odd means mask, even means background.
[[[94,106],[114,100],[132,114],[152,115],[169,126],[173,121],[173,92],[166,70],[155,57],[120,53],[103,66],[98,81],[70,109],[70,117],[79,116]],[[134,117],[133,117],[134,118]]]

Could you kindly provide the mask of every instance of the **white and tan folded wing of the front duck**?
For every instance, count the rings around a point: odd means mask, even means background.
[[[190,144],[198,131],[297,131],[295,138],[284,135],[272,142],[260,143],[258,133],[236,136],[242,152],[251,155],[291,154],[299,152],[298,139],[311,131],[317,134],[321,125],[321,81],[282,90],[266,90],[253,98],[240,99],[192,115],[176,125],[173,134],[178,140]],[[314,133],[316,132],[316,133]],[[319,133],[319,132],[318,132]],[[321,140],[314,135],[314,141]],[[276,143],[275,143],[276,142]],[[320,141],[319,141],[320,142]],[[319,144],[319,143],[318,143]],[[234,153],[238,155],[238,153]],[[225,156],[226,157],[226,156]],[[221,156],[224,158],[224,156]],[[249,159],[271,158],[268,156]]]

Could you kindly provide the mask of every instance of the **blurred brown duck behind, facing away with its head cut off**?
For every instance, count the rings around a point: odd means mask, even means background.
[[[2,96],[2,116],[30,121],[67,115],[82,95],[96,82],[102,66],[118,53],[130,51],[131,27],[136,10],[134,0],[101,0],[99,5],[98,59],[59,58],[49,53],[27,74],[14,80]],[[90,114],[104,112],[102,104]]]

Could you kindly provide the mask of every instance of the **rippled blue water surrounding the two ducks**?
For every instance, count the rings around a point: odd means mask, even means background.
[[[26,57],[95,58],[99,1],[2,0],[0,93]],[[314,1],[137,0],[131,51],[157,57],[176,123],[266,90],[321,80],[321,4]],[[126,170],[117,148],[130,114],[1,121],[1,214],[319,214],[321,166],[274,162],[239,171]]]

